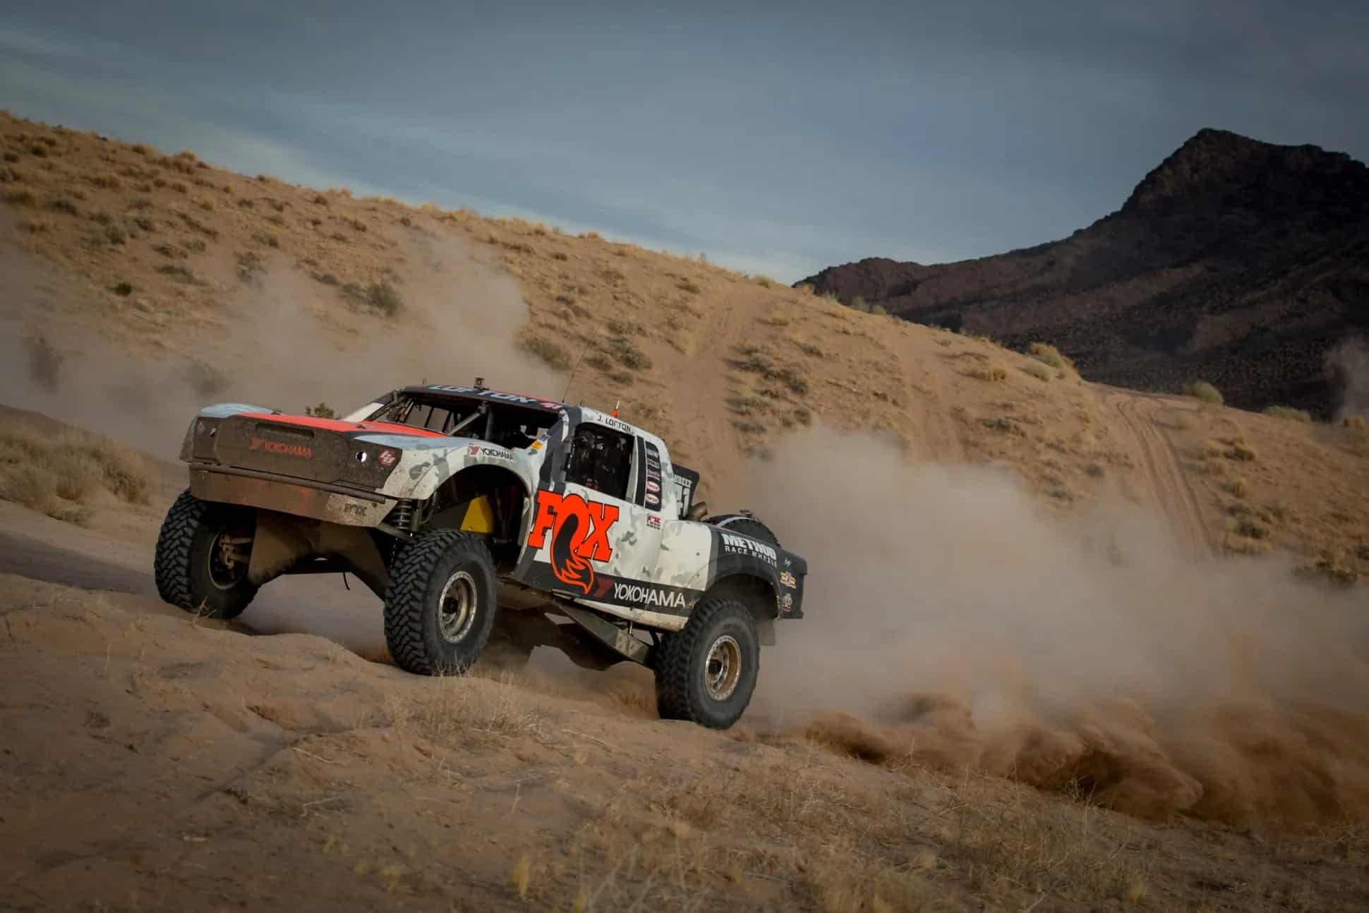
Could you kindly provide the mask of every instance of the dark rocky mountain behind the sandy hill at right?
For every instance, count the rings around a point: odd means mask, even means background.
[[[804,282],[910,321],[1049,341],[1090,380],[1244,409],[1340,404],[1327,356],[1369,328],[1369,169],[1201,130],[1068,239],[957,263],[871,258]]]

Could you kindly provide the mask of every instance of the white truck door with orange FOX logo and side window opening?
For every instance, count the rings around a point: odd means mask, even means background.
[[[619,428],[580,421],[548,456],[553,470],[535,492],[516,576],[539,589],[605,605],[675,602],[652,584],[664,502],[660,455],[648,459],[653,450]]]

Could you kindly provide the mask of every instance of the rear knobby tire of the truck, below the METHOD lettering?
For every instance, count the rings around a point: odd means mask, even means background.
[[[684,628],[667,635],[652,664],[657,713],[663,720],[727,729],[750,703],[760,658],[750,609],[735,599],[705,596]]]

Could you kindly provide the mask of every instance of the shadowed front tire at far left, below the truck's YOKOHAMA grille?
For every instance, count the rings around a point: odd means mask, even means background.
[[[162,521],[152,559],[162,599],[207,618],[235,618],[256,596],[246,563],[223,565],[219,537],[252,535],[256,515],[242,507],[200,500],[189,489],[171,504]]]

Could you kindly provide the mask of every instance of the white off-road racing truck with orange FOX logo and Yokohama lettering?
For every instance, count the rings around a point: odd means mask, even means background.
[[[156,546],[164,600],[233,618],[278,576],[352,573],[408,672],[549,644],[593,669],[639,662],[661,717],[727,728],[775,621],[802,617],[806,562],[747,511],[706,515],[700,474],[660,437],[481,378],[338,419],[209,406],[181,459],[190,484]]]

